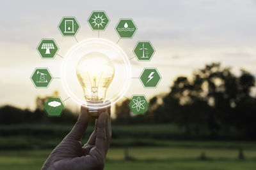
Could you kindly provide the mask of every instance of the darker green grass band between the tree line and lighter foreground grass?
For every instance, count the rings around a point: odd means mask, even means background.
[[[52,148],[70,132],[72,125],[22,124],[0,125],[0,150]],[[256,149],[256,141],[195,140],[184,139],[177,126],[162,125],[113,125],[111,146],[170,146],[180,148],[244,148]],[[83,143],[93,131],[88,127]],[[194,139],[194,140],[193,140]],[[231,138],[230,138],[231,139]]]

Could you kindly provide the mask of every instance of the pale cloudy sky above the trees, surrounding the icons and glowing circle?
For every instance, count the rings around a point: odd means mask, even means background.
[[[0,106],[11,104],[35,108],[35,97],[58,90],[62,99],[68,95],[60,79],[47,89],[36,89],[30,80],[35,67],[48,67],[60,77],[63,59],[43,60],[36,51],[42,38],[54,38],[65,53],[76,39],[61,36],[58,24],[64,16],[77,18],[81,29],[77,41],[97,38],[87,23],[93,10],[106,11],[110,22],[100,38],[117,42],[115,25],[120,18],[132,18],[138,31],[132,39],[120,39],[118,45],[128,57],[137,41],[151,41],[156,53],[149,62],[131,59],[132,77],[144,67],[157,67],[162,80],[156,89],[144,89],[132,79],[125,94],[150,97],[169,92],[177,76],[191,76],[193,71],[211,62],[230,66],[238,74],[244,68],[256,75],[256,1],[1,1],[0,6]],[[77,108],[68,99],[65,105]]]

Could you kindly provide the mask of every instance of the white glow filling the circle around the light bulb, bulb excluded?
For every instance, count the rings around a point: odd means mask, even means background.
[[[79,41],[68,50],[61,66],[61,82],[65,92],[77,104],[86,105],[83,89],[77,80],[76,66],[77,62],[90,52],[100,52],[107,55],[115,65],[115,76],[107,90],[105,101],[111,101],[115,104],[127,92],[131,81],[131,66],[127,55],[120,46],[112,41],[102,38],[92,38]],[[105,108],[109,105],[90,103],[90,108]]]

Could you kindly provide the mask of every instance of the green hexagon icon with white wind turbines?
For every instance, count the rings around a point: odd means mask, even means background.
[[[150,41],[138,41],[133,53],[137,60],[151,60],[155,50]]]

